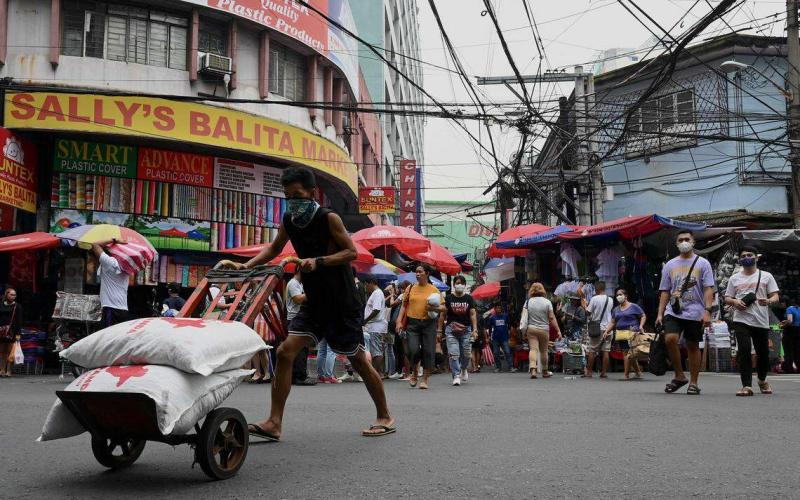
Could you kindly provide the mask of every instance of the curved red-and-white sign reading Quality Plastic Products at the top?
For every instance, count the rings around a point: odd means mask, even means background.
[[[267,26],[314,49],[334,63],[347,77],[359,100],[358,45],[330,26],[313,9],[294,0],[188,0]],[[308,4],[352,33],[357,33],[348,0],[308,0]]]

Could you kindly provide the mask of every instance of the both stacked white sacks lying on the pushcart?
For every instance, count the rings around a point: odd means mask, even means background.
[[[242,370],[265,348],[250,327],[235,321],[145,318],[98,331],[61,357],[89,369],[65,391],[139,393],[156,404],[162,434],[186,434],[242,380]],[[39,441],[85,431],[57,399]]]

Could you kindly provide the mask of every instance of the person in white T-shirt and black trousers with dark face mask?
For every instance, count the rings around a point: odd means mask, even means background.
[[[758,388],[762,394],[772,394],[767,383],[769,370],[769,308],[780,300],[778,283],[772,274],[756,266],[754,248],[739,251],[742,269],[731,276],[725,290],[725,304],[733,306],[733,331],[736,334],[736,364],[742,378],[742,388],[737,396],[753,395],[753,361],[750,356],[752,342],[756,350]]]

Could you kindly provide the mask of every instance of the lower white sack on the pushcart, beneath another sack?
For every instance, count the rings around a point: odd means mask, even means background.
[[[145,394],[156,403],[158,428],[163,434],[186,434],[252,373],[253,370],[230,370],[204,377],[168,366],[109,366],[87,371],[64,390]],[[76,436],[84,430],[57,399],[37,441]]]

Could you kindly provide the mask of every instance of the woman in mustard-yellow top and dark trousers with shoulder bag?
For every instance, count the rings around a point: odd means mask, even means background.
[[[432,305],[428,303],[428,297],[438,294],[439,290],[430,282],[430,271],[422,264],[416,268],[417,282],[410,285],[403,295],[403,305],[400,315],[395,325],[398,330],[402,330],[403,318],[408,318],[408,359],[412,363],[411,378],[408,383],[411,387],[417,386],[417,370],[413,365],[417,359],[422,360],[424,370],[422,381],[419,383],[420,389],[428,388],[428,380],[431,370],[436,360],[436,320],[431,318],[428,313],[442,313],[446,308],[444,305]]]

